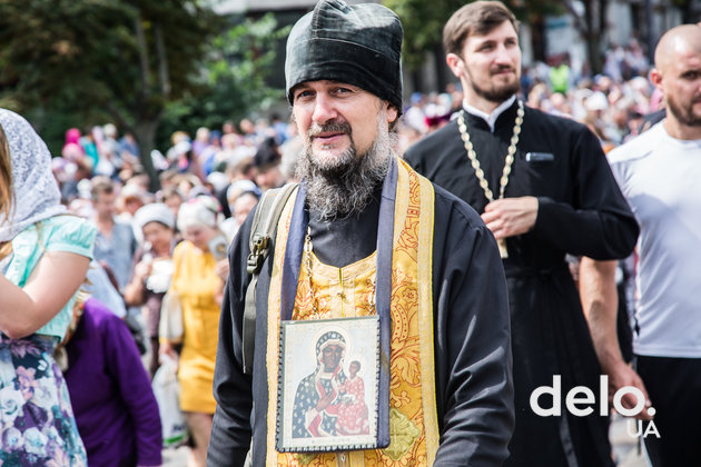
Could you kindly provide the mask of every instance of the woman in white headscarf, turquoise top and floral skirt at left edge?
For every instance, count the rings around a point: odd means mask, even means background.
[[[63,338],[96,230],[65,216],[51,156],[0,109],[0,464],[85,466],[53,349]]]

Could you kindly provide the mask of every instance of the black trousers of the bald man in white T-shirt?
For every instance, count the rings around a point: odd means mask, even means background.
[[[660,438],[644,438],[650,461],[654,467],[701,466],[701,358],[636,359],[660,433]]]

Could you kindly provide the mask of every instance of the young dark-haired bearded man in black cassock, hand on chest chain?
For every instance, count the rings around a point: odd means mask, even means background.
[[[503,3],[461,8],[443,41],[463,87],[463,109],[405,159],[480,212],[500,244],[516,409],[505,465],[612,466],[608,414],[574,415],[564,400],[575,386],[599,394],[601,372],[564,259],[626,257],[638,238],[635,219],[594,135],[517,98],[517,22]],[[562,410],[543,415],[531,396],[556,380]],[[535,404],[553,407],[552,397]]]

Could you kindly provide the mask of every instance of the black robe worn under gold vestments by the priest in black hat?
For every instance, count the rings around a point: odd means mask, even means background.
[[[343,267],[375,250],[377,197],[358,218],[322,222],[310,213],[314,251]],[[255,212],[255,211],[254,211]],[[254,465],[265,464],[268,407],[267,300],[273,255],[256,296],[253,376],[243,374],[241,328],[251,212],[229,250],[231,265],[219,322],[214,417],[207,464],[241,466],[253,430]],[[476,212],[435,187],[433,310],[436,405],[441,441],[435,466],[496,466],[513,430],[506,285],[493,236]],[[275,248],[273,248],[273,251]],[[253,413],[251,413],[253,406]],[[253,425],[253,426],[251,426]]]

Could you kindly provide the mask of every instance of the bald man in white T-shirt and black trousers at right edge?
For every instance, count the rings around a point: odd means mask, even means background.
[[[669,30],[650,77],[667,118],[610,152],[641,226],[633,351],[648,388],[652,465],[701,461],[701,27]]]

